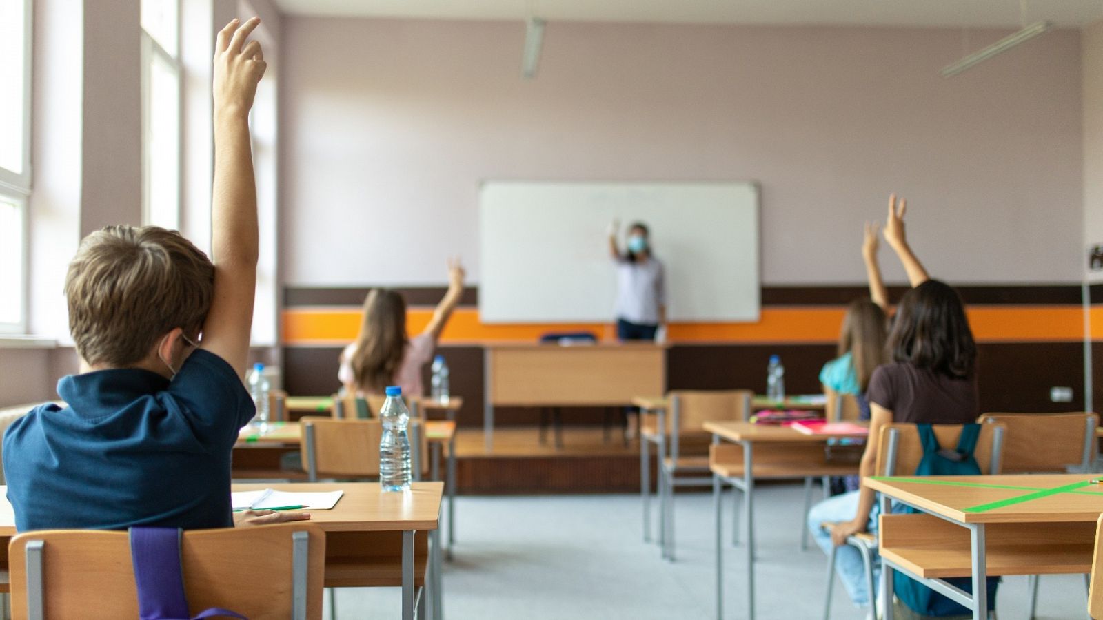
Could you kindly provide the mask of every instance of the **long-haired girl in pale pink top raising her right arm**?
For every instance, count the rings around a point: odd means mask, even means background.
[[[421,367],[432,352],[448,319],[463,295],[463,266],[448,265],[448,292],[437,304],[420,335],[406,336],[406,300],[390,289],[372,289],[364,299],[363,322],[356,342],[341,352],[338,380],[345,394],[383,394],[388,385],[403,388],[404,396],[421,396]]]

